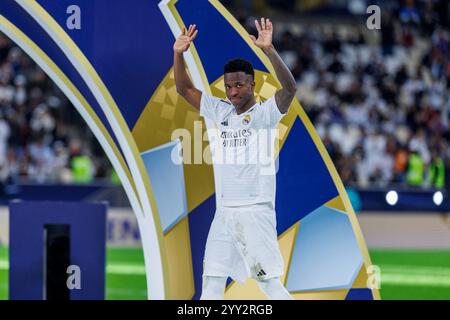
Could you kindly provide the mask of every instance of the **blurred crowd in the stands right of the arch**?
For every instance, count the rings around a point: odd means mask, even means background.
[[[449,12],[441,1],[382,7],[365,21],[289,25],[277,49],[344,183],[358,187],[450,184]],[[241,22],[256,34],[253,18]],[[280,24],[278,24],[280,26]]]

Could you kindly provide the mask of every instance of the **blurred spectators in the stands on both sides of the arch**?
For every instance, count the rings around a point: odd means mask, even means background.
[[[450,184],[448,11],[442,1],[379,2],[391,4],[382,7],[381,30],[366,29],[365,20],[279,23],[274,42],[344,183],[444,188]],[[256,34],[253,17],[240,21]],[[75,108],[0,34],[0,183],[110,175]]]

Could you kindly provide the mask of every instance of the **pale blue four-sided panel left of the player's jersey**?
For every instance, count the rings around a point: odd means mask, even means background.
[[[180,140],[171,141],[141,154],[153,187],[164,233],[187,214],[180,154]]]

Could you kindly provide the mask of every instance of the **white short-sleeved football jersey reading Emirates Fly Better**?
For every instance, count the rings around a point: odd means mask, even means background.
[[[200,115],[219,130],[210,147],[216,174],[220,174],[222,190],[217,196],[222,206],[275,205],[276,125],[284,116],[275,97],[238,115],[229,101],[202,93]]]

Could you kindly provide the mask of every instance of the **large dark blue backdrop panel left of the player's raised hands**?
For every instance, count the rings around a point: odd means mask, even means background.
[[[132,130],[173,62],[174,37],[159,1],[128,0],[125,6],[123,0],[76,1],[80,30],[66,28],[66,9],[73,0],[38,2],[83,51]],[[94,12],[95,17],[84,16]]]

